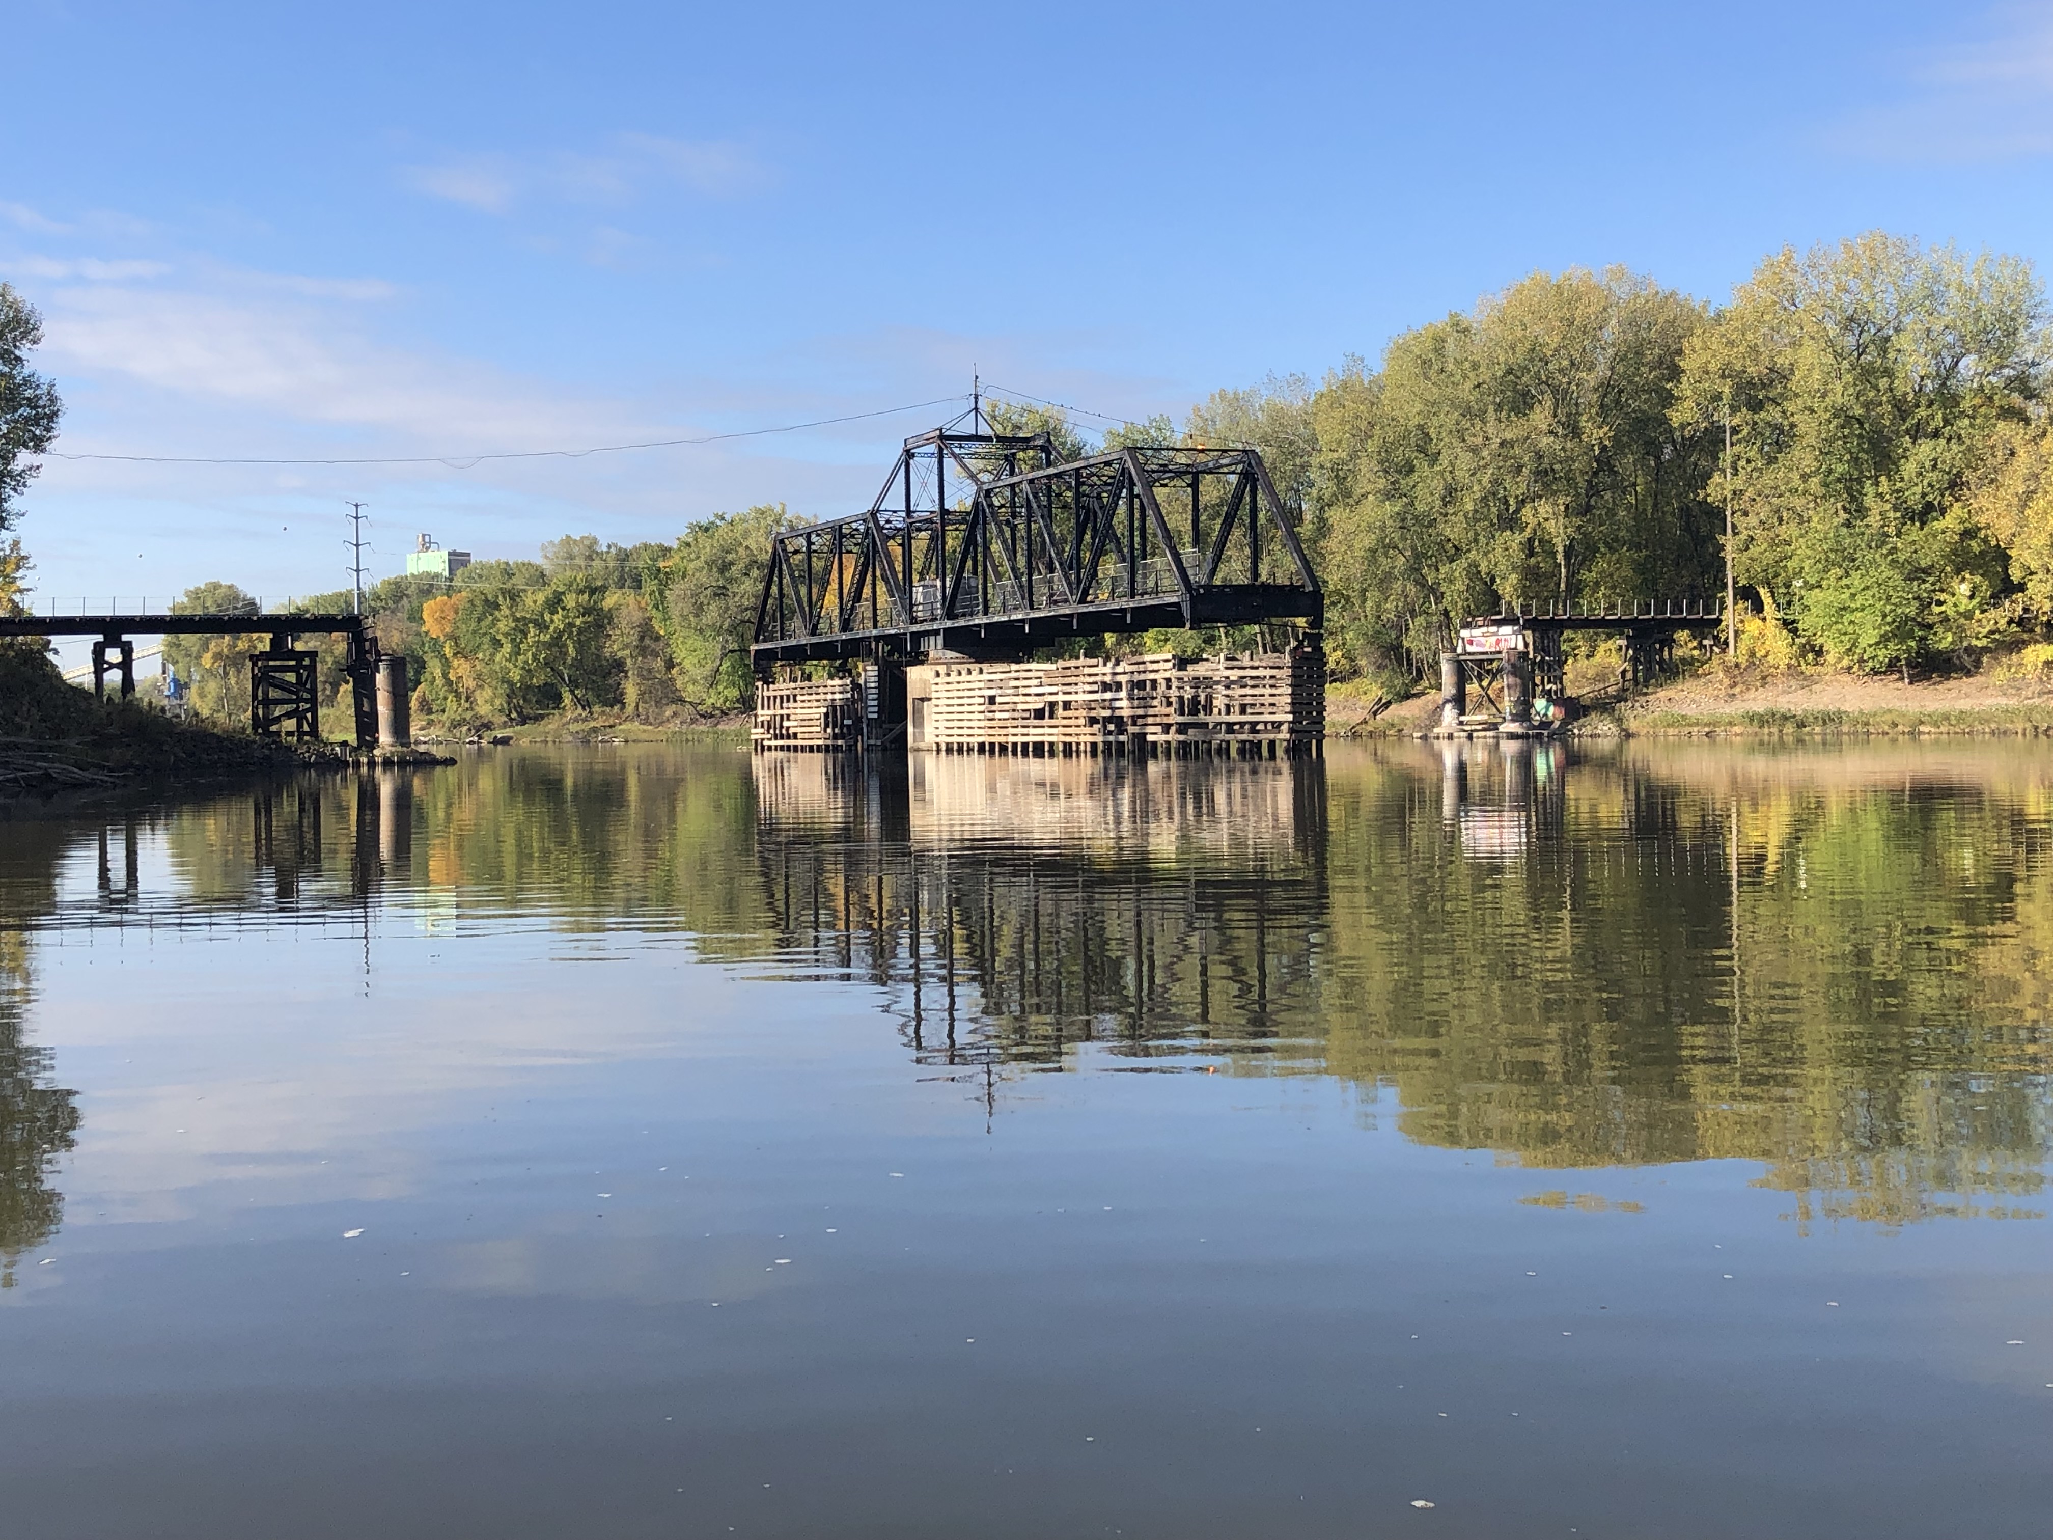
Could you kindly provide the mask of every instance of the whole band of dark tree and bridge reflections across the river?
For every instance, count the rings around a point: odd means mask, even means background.
[[[349,928],[367,969],[390,924],[675,936],[858,986],[918,1064],[987,1088],[1320,1074],[1525,1166],[1759,1162],[1803,1226],[2039,1218],[2049,786],[2006,745],[536,752],[23,825],[4,1246],[55,1222],[76,1125],[21,1043],[23,932],[193,924]]]

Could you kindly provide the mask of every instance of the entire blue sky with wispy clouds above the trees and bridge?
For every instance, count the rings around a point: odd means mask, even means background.
[[[462,456],[967,392],[1176,417],[1534,269],[2053,257],[2053,4],[16,0],[0,277],[70,454]],[[472,466],[47,462],[45,595],[838,513],[928,407]]]

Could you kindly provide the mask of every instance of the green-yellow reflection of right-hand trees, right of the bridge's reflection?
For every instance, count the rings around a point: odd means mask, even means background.
[[[1478,768],[1443,764],[1441,791],[1472,795]],[[1525,1164],[1759,1160],[1800,1224],[2041,1216],[2018,1203],[2043,1187],[2053,940],[2030,758],[1622,749],[1532,772],[1515,852],[1464,821],[1464,858],[1388,860],[1382,819],[1334,856],[1326,1070],[1396,1084],[1417,1140]],[[1351,786],[1345,813],[1396,801]]]

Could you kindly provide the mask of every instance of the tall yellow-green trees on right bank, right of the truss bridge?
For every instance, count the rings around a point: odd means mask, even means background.
[[[2026,261],[1864,234],[1764,259],[1725,306],[1538,273],[1258,409],[1310,446],[1365,669],[1503,602],[1714,598],[1727,503],[1764,647],[1969,667],[2053,622],[2047,345]]]

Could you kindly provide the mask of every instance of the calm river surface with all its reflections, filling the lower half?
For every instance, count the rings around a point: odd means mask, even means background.
[[[2049,996],[2035,743],[0,825],[0,1528],[2039,1540]]]

